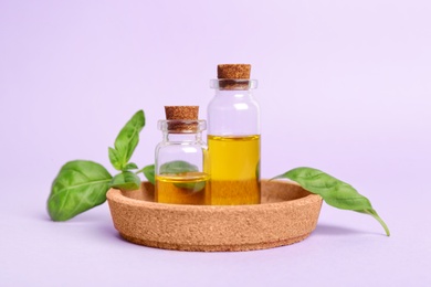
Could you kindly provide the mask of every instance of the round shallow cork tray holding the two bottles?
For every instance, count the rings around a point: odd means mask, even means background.
[[[127,241],[196,252],[253,251],[293,244],[316,227],[322,198],[295,183],[262,180],[262,204],[154,202],[154,185],[107,192],[114,226]]]

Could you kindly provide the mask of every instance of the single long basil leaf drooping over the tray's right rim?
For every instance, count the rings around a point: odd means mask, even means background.
[[[273,179],[283,178],[297,182],[312,193],[319,194],[327,204],[334,208],[374,216],[385,228],[386,234],[390,235],[388,226],[372,209],[371,202],[350,184],[313,168],[295,168]]]

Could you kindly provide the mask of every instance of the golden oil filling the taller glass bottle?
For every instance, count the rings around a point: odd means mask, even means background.
[[[259,204],[261,137],[208,136],[211,204]]]

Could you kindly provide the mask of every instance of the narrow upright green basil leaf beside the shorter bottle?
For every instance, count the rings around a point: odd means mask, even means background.
[[[117,167],[122,167],[123,169],[130,160],[132,155],[139,142],[139,132],[140,130],[143,130],[144,126],[145,126],[144,111],[138,110],[119,131],[114,144],[118,157],[118,162],[114,161],[115,164],[113,163],[114,168],[116,168],[117,166]]]

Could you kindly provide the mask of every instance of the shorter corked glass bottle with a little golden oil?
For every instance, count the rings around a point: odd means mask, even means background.
[[[208,204],[208,147],[202,141],[204,120],[198,106],[166,106],[158,121],[162,141],[156,147],[156,192],[160,203]]]

